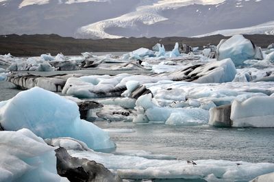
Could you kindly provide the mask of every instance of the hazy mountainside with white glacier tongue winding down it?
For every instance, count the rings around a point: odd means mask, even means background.
[[[273,8],[273,0],[0,0],[0,34],[197,36],[269,26]]]

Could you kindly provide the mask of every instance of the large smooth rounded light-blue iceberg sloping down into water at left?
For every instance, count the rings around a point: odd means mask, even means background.
[[[71,137],[95,150],[115,147],[108,133],[80,119],[76,103],[42,88],[19,92],[7,101],[0,120],[5,130],[27,128],[42,138]]]

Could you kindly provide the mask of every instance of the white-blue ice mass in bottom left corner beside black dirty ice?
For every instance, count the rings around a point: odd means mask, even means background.
[[[0,138],[0,181],[61,181],[55,148],[42,138],[28,129],[1,131]]]

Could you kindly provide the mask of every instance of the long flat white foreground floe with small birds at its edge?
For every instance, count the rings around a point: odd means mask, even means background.
[[[260,174],[273,172],[274,164],[252,164],[245,161],[197,160],[196,166],[182,160],[147,159],[145,157],[68,151],[73,157],[87,158],[103,164],[123,179],[191,179],[194,181],[213,176],[219,181],[249,181]],[[141,155],[139,155],[141,156]],[[240,164],[240,166],[236,164]],[[211,177],[212,179],[212,177]]]

